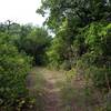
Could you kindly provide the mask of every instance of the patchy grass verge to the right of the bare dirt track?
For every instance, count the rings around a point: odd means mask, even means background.
[[[60,94],[63,111],[111,111],[104,110],[103,93],[85,81],[83,75],[67,71],[67,81],[62,84]]]

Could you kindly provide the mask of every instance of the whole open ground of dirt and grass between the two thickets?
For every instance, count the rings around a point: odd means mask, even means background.
[[[99,94],[93,91],[93,94],[87,95],[88,88],[80,75],[74,77],[72,81],[65,80],[64,72],[46,68],[32,69],[27,85],[37,101],[30,111],[97,111]],[[43,103],[37,95],[38,89],[42,92]]]

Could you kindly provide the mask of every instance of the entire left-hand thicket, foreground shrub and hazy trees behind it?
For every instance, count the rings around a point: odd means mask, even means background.
[[[33,104],[27,75],[32,65],[46,63],[50,40],[44,28],[0,23],[0,111],[21,111]]]

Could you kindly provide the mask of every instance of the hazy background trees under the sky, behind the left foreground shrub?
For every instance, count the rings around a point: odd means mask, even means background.
[[[33,64],[46,64],[46,50],[50,46],[51,37],[47,29],[31,24],[20,26],[7,21],[0,24],[0,32],[4,34],[7,42],[14,44],[19,52],[26,52],[33,57]],[[7,36],[6,36],[7,34]],[[2,36],[3,37],[3,36]]]

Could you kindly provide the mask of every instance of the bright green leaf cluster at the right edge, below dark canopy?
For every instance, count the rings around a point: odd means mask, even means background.
[[[85,43],[89,46],[89,50],[100,56],[110,56],[111,43],[109,41],[111,40],[111,24],[107,22],[94,22],[85,30],[84,38]]]

